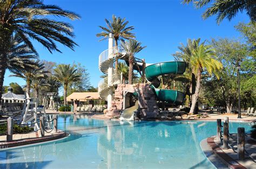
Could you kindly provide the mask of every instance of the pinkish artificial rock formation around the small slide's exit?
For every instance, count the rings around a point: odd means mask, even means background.
[[[107,116],[120,116],[123,109],[130,104],[129,95],[138,93],[139,118],[155,118],[159,114],[156,97],[149,84],[138,83],[134,85],[120,84],[114,92],[112,106],[107,112]],[[125,101],[125,103],[124,103]]]

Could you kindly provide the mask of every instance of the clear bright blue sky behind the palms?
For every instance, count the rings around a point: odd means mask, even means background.
[[[171,54],[178,51],[180,43],[186,44],[187,38],[236,38],[239,32],[234,25],[239,22],[249,22],[246,13],[239,13],[229,22],[224,20],[220,25],[215,22],[215,17],[207,20],[201,18],[203,9],[196,10],[192,5],[182,5],[180,0],[123,0],[123,1],[99,1],[99,0],[46,0],[47,4],[56,4],[63,9],[75,11],[82,19],[69,21],[74,26],[75,41],[79,46],[75,52],[63,45],[58,45],[63,53],[51,54],[42,45],[35,43],[40,59],[54,61],[57,64],[72,64],[74,61],[84,65],[90,73],[91,84],[98,86],[99,76],[102,73],[98,69],[99,54],[107,49],[107,40],[98,41],[96,33],[100,32],[99,25],[105,26],[104,19],[110,19],[112,15],[125,17],[129,25],[134,26],[133,33],[137,40],[147,46],[137,57],[144,58],[147,63],[171,61]],[[56,18],[59,19],[59,18]],[[5,74],[4,85],[17,82],[25,85],[21,78],[9,77],[9,71]]]

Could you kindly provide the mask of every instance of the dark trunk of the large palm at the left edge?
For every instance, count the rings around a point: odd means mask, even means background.
[[[0,29],[0,98],[2,98],[4,75],[6,71],[7,53],[10,48],[11,33],[4,29]],[[2,99],[0,99],[2,103]]]

